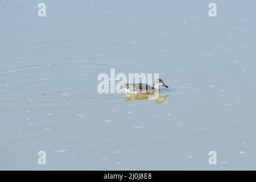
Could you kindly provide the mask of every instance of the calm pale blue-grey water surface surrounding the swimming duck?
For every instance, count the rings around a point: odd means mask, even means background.
[[[2,170],[256,168],[255,1],[39,2],[0,1]],[[110,68],[168,96],[98,94]]]

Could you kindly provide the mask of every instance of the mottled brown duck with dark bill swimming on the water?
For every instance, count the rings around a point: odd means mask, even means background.
[[[166,84],[164,84],[163,80],[158,78],[154,81],[153,86],[148,84],[123,84],[122,88],[125,89],[126,93],[136,93],[136,94],[154,94],[159,91],[159,87],[164,86],[168,88]]]

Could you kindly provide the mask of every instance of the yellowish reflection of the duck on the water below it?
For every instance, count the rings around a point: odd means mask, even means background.
[[[164,99],[168,97],[160,96],[159,92],[155,92],[154,94],[137,94],[137,93],[126,93],[124,100],[125,101],[135,101],[135,100],[155,100],[157,104],[163,103]]]

